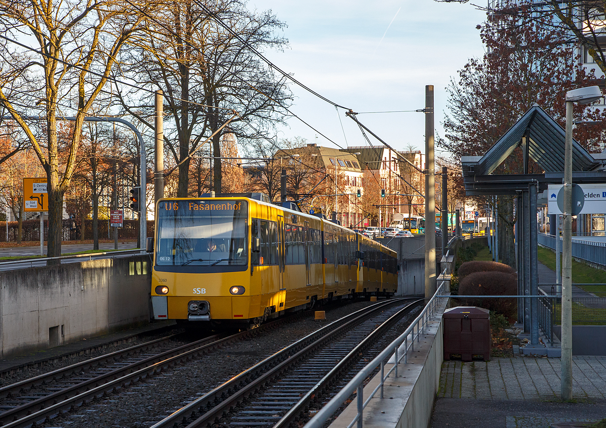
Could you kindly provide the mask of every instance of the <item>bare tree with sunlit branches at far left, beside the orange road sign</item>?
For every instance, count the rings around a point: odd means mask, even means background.
[[[0,0],[0,25],[7,29],[0,45],[0,104],[47,173],[48,256],[61,255],[63,195],[75,172],[84,118],[141,16],[121,0]],[[28,49],[17,40],[36,46]],[[70,113],[76,120],[62,146],[58,121]],[[27,116],[38,115],[43,119],[36,129]]]

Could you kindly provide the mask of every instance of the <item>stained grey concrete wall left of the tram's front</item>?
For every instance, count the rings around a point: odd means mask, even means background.
[[[147,322],[149,268],[133,256],[0,271],[0,355]]]

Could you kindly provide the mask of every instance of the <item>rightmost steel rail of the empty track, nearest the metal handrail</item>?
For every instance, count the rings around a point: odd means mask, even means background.
[[[361,352],[364,352],[368,346],[371,346],[374,342],[377,342],[379,339],[377,336],[382,336],[385,332],[391,328],[399,319],[401,319],[406,314],[410,313],[419,302],[424,302],[424,299],[416,300],[415,302],[410,303],[410,305],[405,306],[398,313],[393,314],[388,320],[385,320],[378,328],[375,329],[369,336],[367,336],[362,342],[358,344],[354,349],[352,349],[345,358],[337,363],[337,365],[331,369],[321,380],[318,381],[311,389],[301,398],[288,412],[282,417],[281,420],[276,423],[273,428],[288,428],[290,423],[298,418],[302,412],[304,412],[305,408],[309,406],[309,404],[326,389],[328,384],[333,382],[338,375],[348,368],[352,363],[355,363],[356,360],[359,360],[359,356]]]

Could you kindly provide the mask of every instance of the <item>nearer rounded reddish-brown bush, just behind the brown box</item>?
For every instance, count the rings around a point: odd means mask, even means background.
[[[511,296],[518,294],[516,274],[501,271],[474,272],[459,282],[459,296]],[[517,299],[461,299],[466,306],[481,308],[502,314],[510,321],[518,314]]]

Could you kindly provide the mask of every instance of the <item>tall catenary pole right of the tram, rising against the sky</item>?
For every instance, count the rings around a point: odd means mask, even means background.
[[[425,86],[425,302],[436,293],[436,176],[433,85]]]

